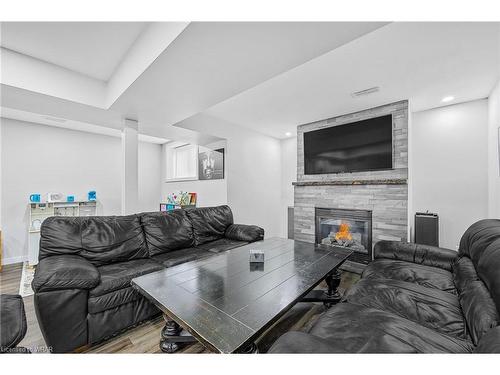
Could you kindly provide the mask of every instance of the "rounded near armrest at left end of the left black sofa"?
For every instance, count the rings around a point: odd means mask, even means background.
[[[55,255],[38,263],[31,286],[35,292],[92,289],[101,276],[97,268],[78,255]]]

